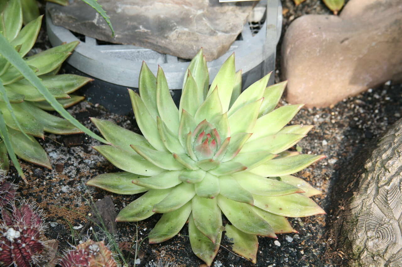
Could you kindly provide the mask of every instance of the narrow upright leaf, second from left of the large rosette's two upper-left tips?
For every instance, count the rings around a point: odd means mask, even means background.
[[[170,95],[168,83],[161,67],[158,67],[156,75],[156,105],[160,118],[170,131],[176,133],[179,127],[178,109]]]

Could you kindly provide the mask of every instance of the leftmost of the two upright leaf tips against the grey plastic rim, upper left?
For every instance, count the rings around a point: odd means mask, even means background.
[[[155,119],[159,116],[156,106],[156,77],[144,61],[139,71],[138,91],[151,117]]]

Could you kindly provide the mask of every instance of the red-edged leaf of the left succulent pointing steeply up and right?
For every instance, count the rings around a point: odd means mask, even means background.
[[[18,52],[21,57],[25,56],[31,50],[33,44],[35,44],[36,38],[39,34],[39,29],[41,28],[42,18],[43,16],[39,16],[38,14],[38,16],[35,16],[35,19],[33,21],[29,22],[28,24],[25,23],[26,26],[22,28],[17,37],[10,42],[12,46],[17,46],[21,44],[21,49]]]

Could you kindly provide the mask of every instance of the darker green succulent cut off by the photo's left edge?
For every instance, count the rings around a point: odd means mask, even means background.
[[[25,57],[35,43],[41,20],[42,16],[39,16],[21,29],[21,3],[19,0],[10,0],[0,14],[0,32],[19,55]],[[62,44],[25,58],[25,62],[36,71],[36,75],[63,107],[81,101],[84,97],[69,93],[92,80],[72,74],[56,75],[77,44],[78,42]],[[76,134],[82,131],[66,119],[46,112],[54,110],[53,107],[2,55],[0,91],[0,116],[5,121],[4,127],[15,154],[28,162],[51,168],[45,150],[33,136],[44,138],[44,131],[53,134]],[[4,141],[4,138],[2,136],[1,141]],[[6,142],[0,142],[0,168],[3,170],[8,170],[7,154],[11,154],[10,148],[6,146]]]

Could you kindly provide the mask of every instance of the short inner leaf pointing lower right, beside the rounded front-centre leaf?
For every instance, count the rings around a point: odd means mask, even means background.
[[[250,205],[254,203],[251,193],[242,188],[232,176],[219,176],[219,187],[219,194],[226,198]]]

